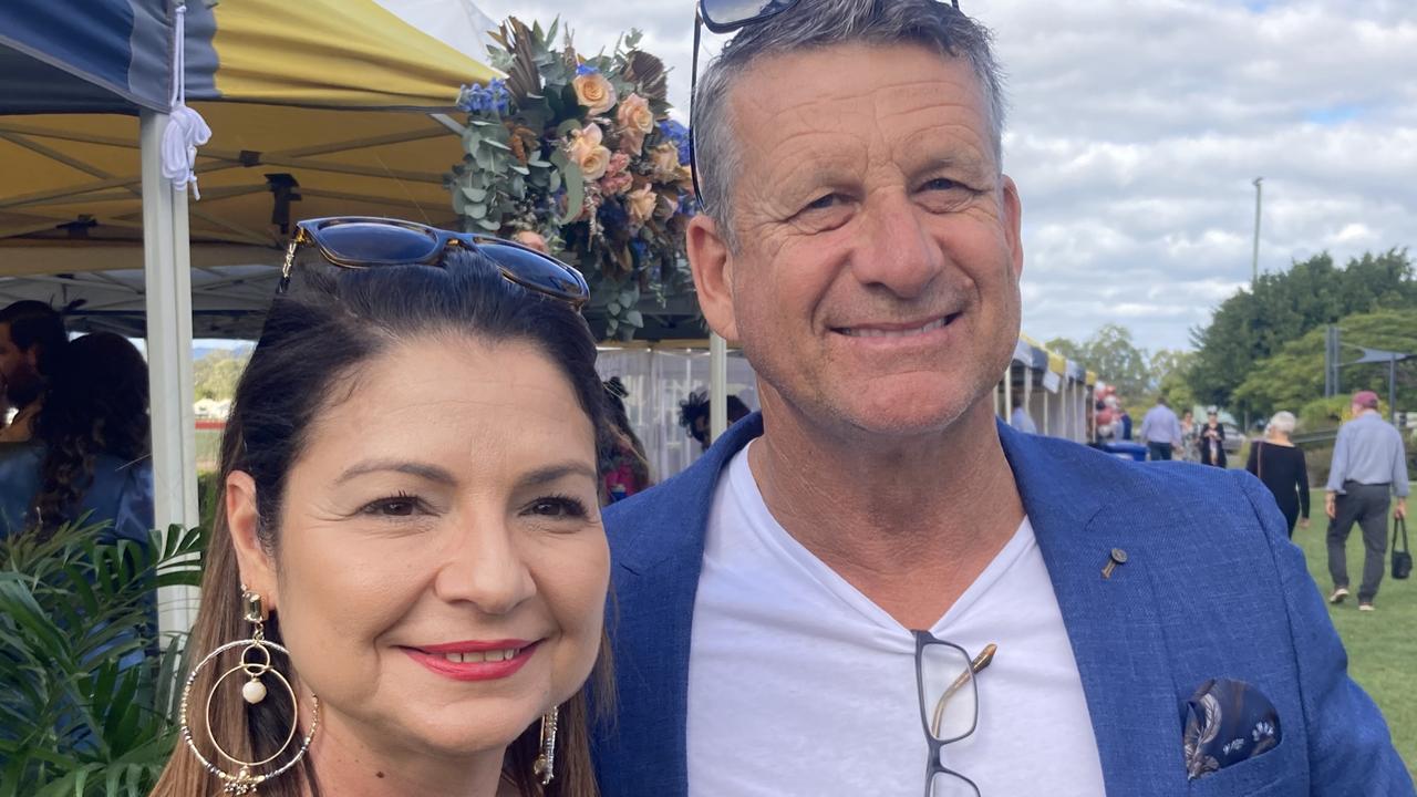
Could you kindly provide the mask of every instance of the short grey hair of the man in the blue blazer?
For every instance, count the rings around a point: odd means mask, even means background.
[[[1003,77],[990,38],[988,28],[937,0],[799,0],[794,9],[738,31],[704,69],[693,98],[700,199],[728,245],[734,245],[733,180],[741,163],[728,94],[755,61],[839,44],[914,44],[944,58],[964,58],[979,79],[993,157],[1002,170]]]

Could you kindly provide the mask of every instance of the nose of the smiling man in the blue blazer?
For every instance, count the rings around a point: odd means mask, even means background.
[[[945,267],[945,255],[924,217],[903,193],[876,194],[864,207],[852,272],[900,298],[924,294]]]

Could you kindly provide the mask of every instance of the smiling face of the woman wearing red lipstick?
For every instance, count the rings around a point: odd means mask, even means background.
[[[273,559],[228,501],[242,577],[329,733],[395,757],[500,750],[599,648],[591,421],[537,349],[462,336],[395,346],[330,393]]]

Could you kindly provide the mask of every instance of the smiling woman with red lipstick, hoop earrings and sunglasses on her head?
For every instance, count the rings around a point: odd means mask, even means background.
[[[295,265],[306,244],[327,262]],[[598,667],[608,695],[609,554],[585,296],[507,241],[300,223],[232,401],[154,796],[595,794],[581,686]]]

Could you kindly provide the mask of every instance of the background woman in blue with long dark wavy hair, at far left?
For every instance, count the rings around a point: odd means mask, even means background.
[[[153,525],[147,461],[147,364],[120,335],[68,346],[35,418],[34,438],[0,448],[0,537],[65,523],[103,525],[105,539],[146,542]]]

